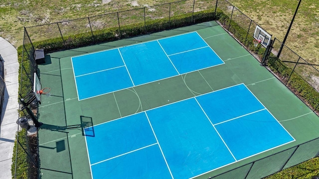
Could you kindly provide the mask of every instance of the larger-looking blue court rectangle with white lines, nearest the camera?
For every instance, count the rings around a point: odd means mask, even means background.
[[[244,84],[85,129],[91,131],[85,139],[93,179],[189,179],[295,141]]]

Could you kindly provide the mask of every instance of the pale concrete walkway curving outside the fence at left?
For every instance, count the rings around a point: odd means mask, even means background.
[[[0,37],[0,59],[4,63],[4,102],[0,122],[0,179],[11,179],[12,153],[18,119],[18,70],[16,49]]]

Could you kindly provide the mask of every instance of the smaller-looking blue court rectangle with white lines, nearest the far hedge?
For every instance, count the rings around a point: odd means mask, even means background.
[[[224,64],[197,32],[71,60],[79,100]]]

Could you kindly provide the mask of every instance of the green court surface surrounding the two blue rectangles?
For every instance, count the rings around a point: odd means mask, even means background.
[[[71,57],[197,31],[223,65],[78,100]],[[50,53],[39,65],[42,94],[38,132],[42,179],[90,179],[81,125],[106,121],[244,83],[296,139],[295,142],[197,177],[210,176],[258,160],[319,136],[319,117],[215,21],[78,49]],[[82,116],[82,117],[81,117]],[[85,116],[85,117],[83,117]],[[82,120],[81,120],[82,119]],[[82,121],[82,122],[81,122]],[[102,152],[102,151],[101,151]],[[276,159],[272,158],[275,162]]]

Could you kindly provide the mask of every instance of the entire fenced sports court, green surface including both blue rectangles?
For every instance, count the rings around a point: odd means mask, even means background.
[[[319,117],[215,21],[46,62],[42,179],[207,179],[319,135]]]

